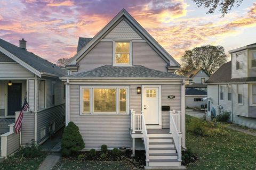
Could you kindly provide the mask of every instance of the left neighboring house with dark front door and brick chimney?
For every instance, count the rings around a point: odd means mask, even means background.
[[[31,140],[40,144],[49,138],[50,130],[65,125],[65,85],[59,79],[65,74],[57,65],[28,52],[24,39],[20,47],[0,39],[0,125],[14,123],[27,97],[30,110],[23,116],[21,145]],[[2,133],[7,131],[9,127]],[[11,137],[3,134],[2,141],[7,139],[9,143]]]

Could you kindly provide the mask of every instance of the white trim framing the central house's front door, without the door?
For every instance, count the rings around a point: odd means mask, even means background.
[[[162,86],[161,85],[142,85],[141,86],[141,109],[143,111],[143,88],[157,87],[158,88],[158,125],[147,125],[148,129],[162,129]]]

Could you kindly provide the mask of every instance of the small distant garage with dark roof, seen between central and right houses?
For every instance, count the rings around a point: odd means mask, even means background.
[[[198,90],[195,88],[186,89],[186,107],[189,108],[204,108],[207,104],[207,101],[203,98],[207,97],[207,92],[204,90]]]

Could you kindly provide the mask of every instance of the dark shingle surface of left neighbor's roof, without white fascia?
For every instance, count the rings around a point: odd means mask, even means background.
[[[0,46],[39,72],[55,74],[59,77],[66,75],[66,71],[62,70],[57,65],[55,65],[43,58],[31,53],[31,52],[28,52],[25,49],[17,47],[1,38],[0,38]]]

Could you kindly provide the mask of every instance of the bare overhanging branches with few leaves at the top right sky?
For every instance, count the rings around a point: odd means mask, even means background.
[[[243,0],[193,0],[194,3],[198,7],[204,6],[206,8],[210,8],[207,13],[214,13],[216,8],[220,6],[220,10],[222,13],[222,17],[225,16],[225,14],[228,13],[228,11],[231,10],[231,8],[234,6],[234,4],[237,4],[239,6]]]

